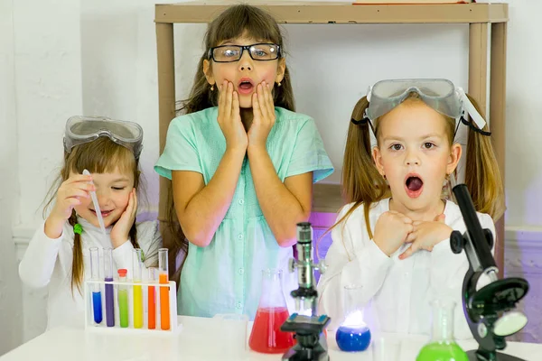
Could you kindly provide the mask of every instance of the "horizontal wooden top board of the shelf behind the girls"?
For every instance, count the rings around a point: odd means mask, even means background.
[[[210,23],[232,2],[205,1],[155,5],[155,23]],[[269,3],[265,8],[278,23],[505,23],[508,4]]]

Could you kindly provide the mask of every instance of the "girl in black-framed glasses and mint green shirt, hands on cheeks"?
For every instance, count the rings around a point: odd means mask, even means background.
[[[294,113],[283,38],[269,14],[231,6],[204,43],[185,115],[169,125],[154,167],[173,180],[169,223],[179,222],[189,242],[178,310],[254,319],[261,271],[286,269],[312,184],[332,163],[313,119]],[[294,274],[285,274],[285,293],[294,288]]]

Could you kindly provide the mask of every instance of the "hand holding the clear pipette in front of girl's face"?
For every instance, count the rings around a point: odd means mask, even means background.
[[[75,206],[81,204],[81,198],[89,198],[89,191],[96,190],[91,175],[72,175],[61,183],[57,190],[57,198],[51,214],[45,221],[45,235],[50,238],[58,238],[62,234],[62,227]]]

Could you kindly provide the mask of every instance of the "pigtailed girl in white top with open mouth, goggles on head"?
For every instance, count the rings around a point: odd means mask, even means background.
[[[363,285],[359,301],[384,332],[429,334],[429,301],[462,304],[469,263],[453,254],[449,237],[466,227],[443,192],[463,153],[457,126],[469,129],[465,183],[481,226],[495,236],[493,219],[504,213],[499,167],[477,109],[444,79],[380,81],[354,107],[342,173],[350,204],[332,227],[329,268],[318,285],[332,328],[343,318],[341,290],[349,283]],[[455,325],[458,338],[471,337],[461,307]]]

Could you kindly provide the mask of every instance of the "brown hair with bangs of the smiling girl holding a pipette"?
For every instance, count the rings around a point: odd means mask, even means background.
[[[43,209],[43,216],[53,199],[56,197],[57,190],[61,182],[70,178],[70,172],[81,174],[83,170],[89,170],[90,173],[107,173],[116,171],[131,172],[134,175],[134,188],[138,190],[140,187],[139,162],[135,159],[134,153],[126,147],[114,143],[107,137],[99,137],[97,140],[79,144],[71,150],[70,153],[64,152],[64,164],[61,172],[55,181],[48,196]],[[71,216],[68,219],[70,226],[75,226],[78,223],[75,209],[71,211]],[[84,229],[83,229],[84,232]],[[135,248],[139,248],[137,244],[137,231],[135,222],[130,228],[128,236]],[[77,287],[81,292],[81,283],[83,282],[84,264],[83,251],[81,248],[81,236],[77,233],[73,237],[73,260],[71,262],[71,292]]]

